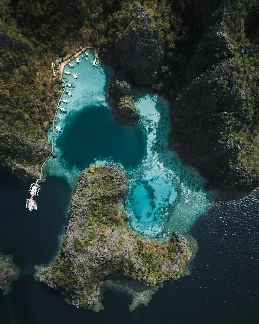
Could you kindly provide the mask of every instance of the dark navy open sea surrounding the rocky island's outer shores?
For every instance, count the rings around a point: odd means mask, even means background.
[[[70,191],[61,179],[49,177],[37,213],[22,208],[27,191],[14,176],[1,174],[0,250],[14,254],[21,271],[11,292],[0,294],[1,323],[258,323],[258,190],[238,201],[214,202],[196,221],[190,234],[199,250],[190,275],[164,283],[147,307],[132,312],[130,296],[107,290],[99,313],[68,305],[33,279],[34,265],[57,253]],[[10,197],[16,201],[11,211]]]

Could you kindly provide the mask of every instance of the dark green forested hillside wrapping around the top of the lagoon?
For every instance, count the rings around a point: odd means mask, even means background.
[[[0,133],[45,140],[53,56],[92,44],[171,102],[170,147],[210,187],[258,185],[259,1],[0,1]],[[7,144],[6,144],[7,145]],[[1,163],[14,165],[11,144]]]

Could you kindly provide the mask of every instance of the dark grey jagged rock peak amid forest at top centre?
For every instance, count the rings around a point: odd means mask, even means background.
[[[142,7],[133,5],[132,23],[122,37],[117,52],[122,69],[129,70],[136,83],[150,83],[150,74],[161,65],[163,42]]]

